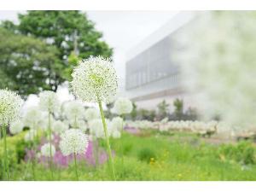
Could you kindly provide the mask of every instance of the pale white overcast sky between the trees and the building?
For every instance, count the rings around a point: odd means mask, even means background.
[[[17,13],[25,11],[0,11],[0,20],[18,21]],[[103,39],[113,47],[113,60],[119,76],[120,92],[125,82],[126,53],[166,24],[177,11],[86,11]],[[65,91],[64,91],[65,92]],[[68,96],[67,96],[68,97]],[[65,100],[65,99],[63,99]]]

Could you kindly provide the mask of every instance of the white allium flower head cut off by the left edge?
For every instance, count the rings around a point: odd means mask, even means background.
[[[0,125],[8,125],[20,115],[23,101],[11,90],[0,90]]]

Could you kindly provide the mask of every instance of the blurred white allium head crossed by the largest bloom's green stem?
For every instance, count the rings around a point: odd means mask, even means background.
[[[112,130],[111,130],[111,126],[110,122],[108,119],[106,120],[106,124],[108,127],[108,136],[111,135]],[[102,125],[102,119],[93,119],[89,121],[89,129],[90,129],[90,134],[92,134],[93,136],[97,137],[97,138],[105,138],[105,133],[104,133],[104,128]]]

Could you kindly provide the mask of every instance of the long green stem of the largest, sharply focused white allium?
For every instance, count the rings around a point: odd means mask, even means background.
[[[109,138],[108,138],[108,128],[107,128],[105,116],[104,116],[103,109],[102,109],[102,102],[100,99],[98,99],[98,104],[99,104],[99,108],[100,108],[100,112],[101,112],[102,124],[103,124],[104,133],[105,133],[105,137],[106,137],[106,144],[107,144],[107,148],[108,148],[109,162],[110,162],[111,169],[112,169],[112,176],[113,176],[113,179],[116,180],[115,173],[114,173],[114,166],[113,166],[113,158],[112,158],[111,148],[110,148]]]

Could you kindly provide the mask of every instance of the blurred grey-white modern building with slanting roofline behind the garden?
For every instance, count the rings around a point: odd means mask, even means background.
[[[125,95],[139,108],[155,108],[164,99],[172,103],[175,98],[182,98],[185,107],[191,106],[173,50],[179,49],[175,44],[177,33],[194,18],[194,13],[187,11],[175,15],[127,54]]]

